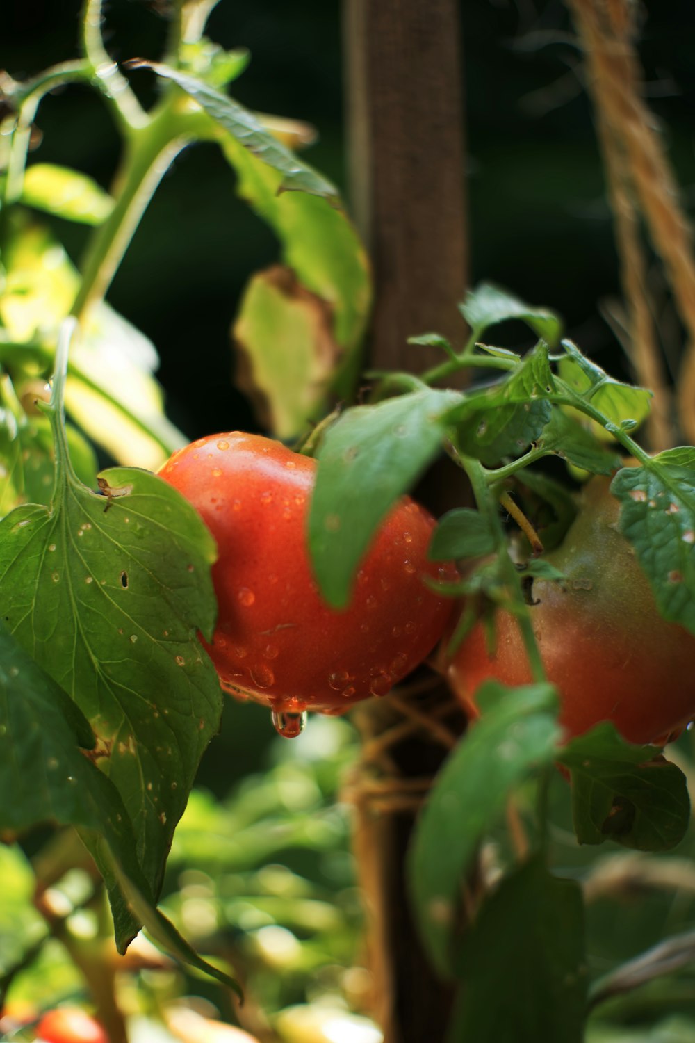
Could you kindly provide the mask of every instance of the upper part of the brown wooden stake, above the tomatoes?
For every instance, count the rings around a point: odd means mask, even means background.
[[[344,0],[344,11],[350,198],[376,281],[370,361],[421,368],[408,337],[465,333],[458,4]]]

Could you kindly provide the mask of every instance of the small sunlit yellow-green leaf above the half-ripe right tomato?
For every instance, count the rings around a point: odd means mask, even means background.
[[[572,390],[604,413],[612,423],[619,427],[626,420],[634,420],[635,427],[638,427],[649,415],[651,391],[609,377],[571,340],[564,340],[563,347],[567,355],[560,361],[560,377]],[[595,431],[602,438],[613,437],[600,425],[595,426]]]

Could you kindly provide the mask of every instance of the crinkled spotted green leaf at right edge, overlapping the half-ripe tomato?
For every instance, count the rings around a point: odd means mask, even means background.
[[[662,454],[648,466],[624,467],[611,492],[660,612],[695,634],[695,467],[671,459],[684,457]]]

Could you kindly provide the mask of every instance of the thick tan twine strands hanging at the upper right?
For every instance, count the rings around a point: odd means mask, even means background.
[[[587,57],[590,90],[606,168],[622,281],[630,312],[638,380],[655,402],[650,427],[654,448],[673,443],[664,366],[646,292],[639,209],[664,265],[688,334],[677,389],[678,418],[695,441],[695,260],[692,229],[655,126],[642,98],[642,72],[634,46],[635,7],[628,0],[566,0]]]

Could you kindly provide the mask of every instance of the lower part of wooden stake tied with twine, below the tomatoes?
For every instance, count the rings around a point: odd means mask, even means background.
[[[371,1013],[383,1028],[384,1043],[400,1043],[403,993],[431,975],[424,952],[414,944],[417,931],[404,907],[404,856],[414,821],[442,761],[464,731],[465,718],[448,688],[428,674],[382,700],[356,706],[353,720],[362,752],[342,799],[354,808],[353,851],[373,983]],[[446,991],[440,1000],[448,1004]],[[444,1028],[448,1013],[439,1003],[437,1014],[429,1016],[430,1028],[432,1018]],[[406,1029],[408,1039],[424,1039],[426,1030],[424,1024]]]

